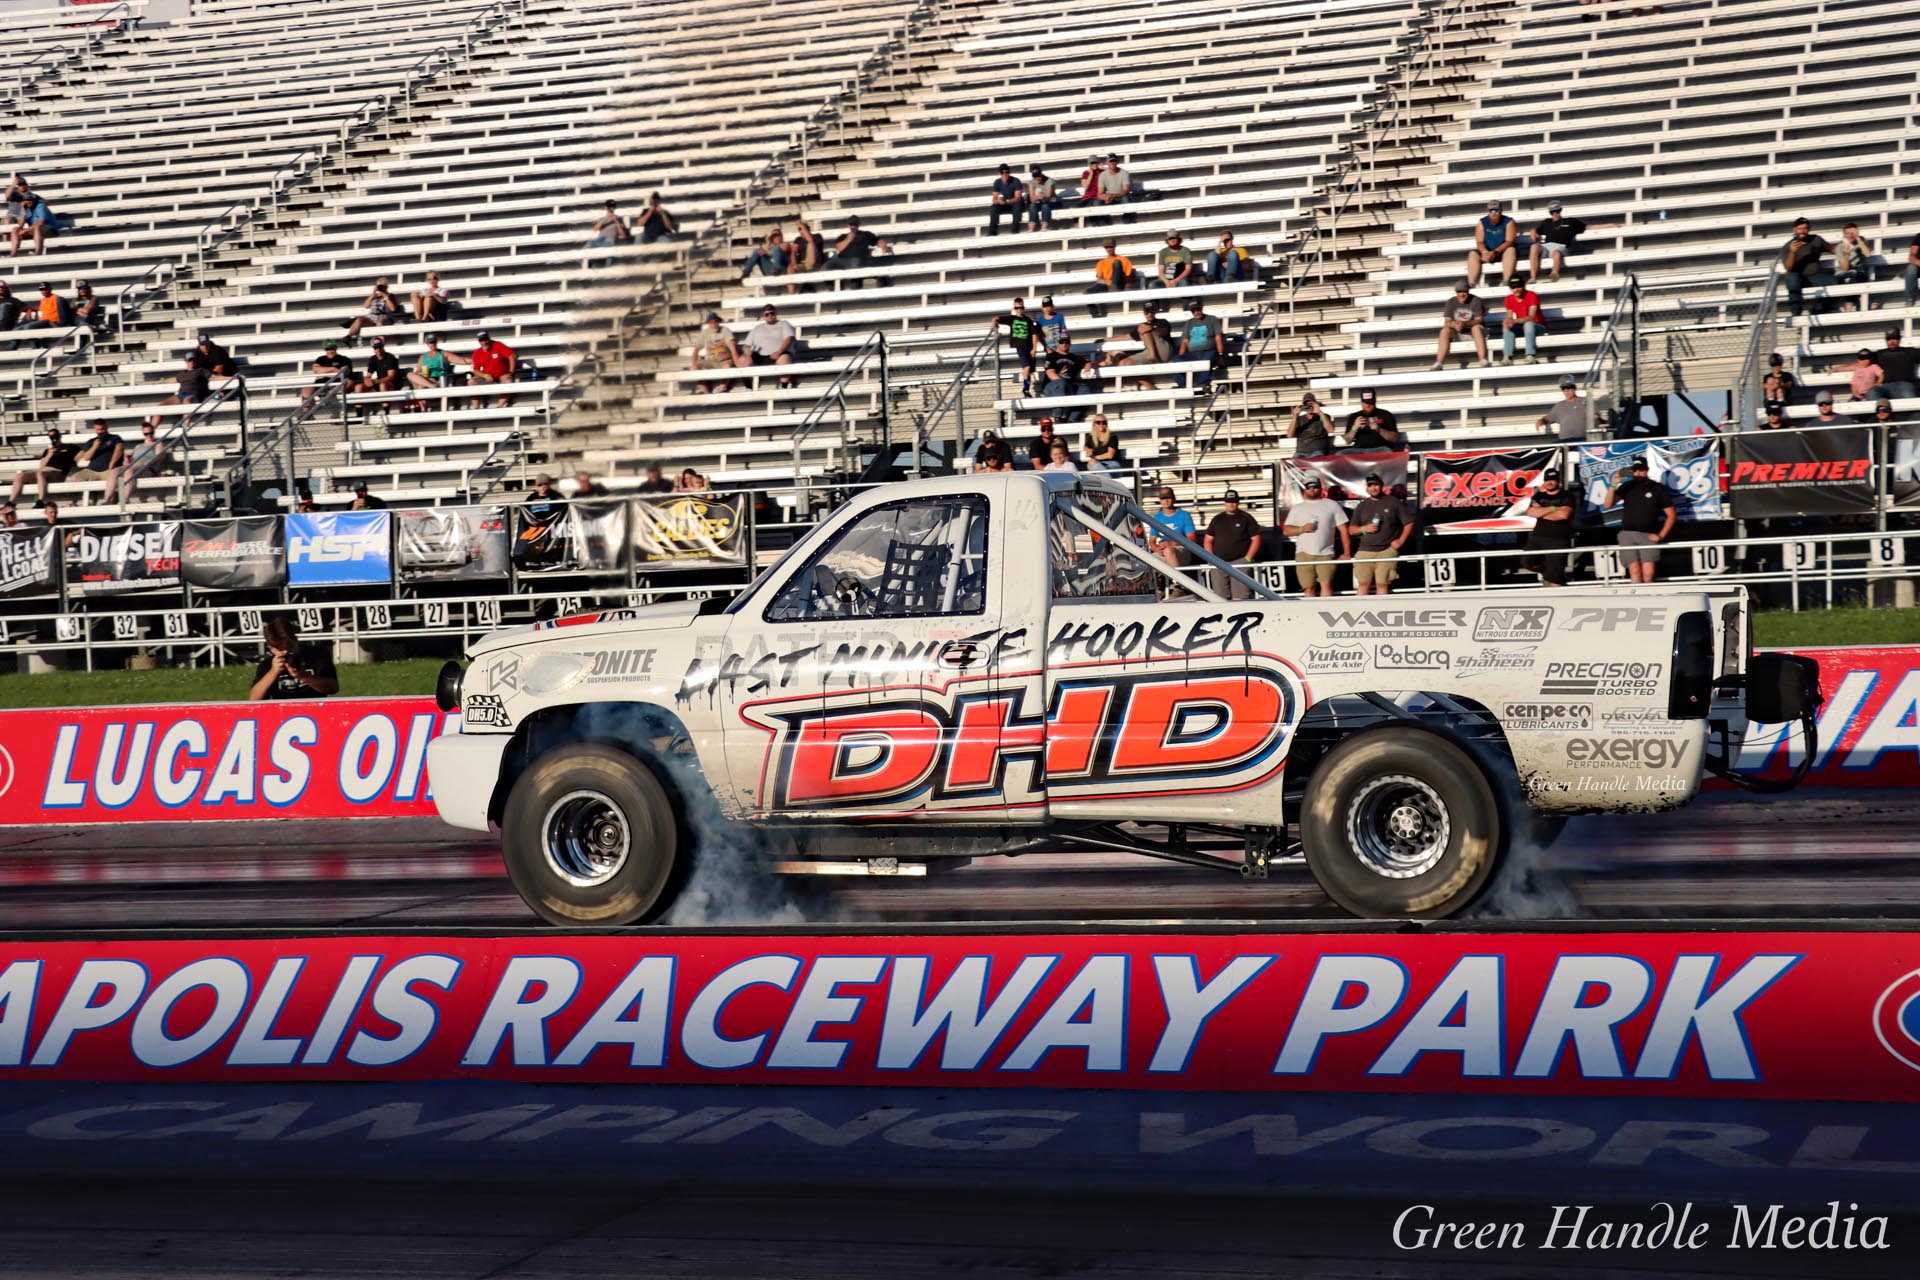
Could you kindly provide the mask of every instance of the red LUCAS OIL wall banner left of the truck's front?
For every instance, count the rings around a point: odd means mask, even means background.
[[[432,699],[0,710],[0,825],[430,818],[447,720]]]

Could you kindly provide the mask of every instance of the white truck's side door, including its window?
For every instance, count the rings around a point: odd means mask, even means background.
[[[954,819],[1008,806],[1000,735],[1004,532],[981,491],[868,507],[770,583],[776,689],[724,689],[735,783],[762,814]],[[755,610],[749,610],[749,614]],[[1033,768],[1044,729],[1033,729]]]

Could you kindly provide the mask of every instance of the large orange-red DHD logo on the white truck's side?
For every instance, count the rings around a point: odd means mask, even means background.
[[[1284,764],[1304,700],[1281,670],[1194,674],[1185,664],[1066,679],[1044,718],[1025,714],[1025,687],[960,689],[950,704],[924,693],[837,708],[818,695],[747,708],[749,722],[774,735],[762,802],[780,810],[989,800],[1008,791],[1012,762],[1039,764],[1033,779],[1044,777],[1052,796],[1091,796],[1110,785],[1131,794],[1229,791]]]

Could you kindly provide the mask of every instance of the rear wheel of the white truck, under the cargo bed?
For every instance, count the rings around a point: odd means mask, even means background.
[[[1500,798],[1457,743],[1371,729],[1313,770],[1300,844],[1313,879],[1354,915],[1438,919],[1465,910],[1492,879]]]

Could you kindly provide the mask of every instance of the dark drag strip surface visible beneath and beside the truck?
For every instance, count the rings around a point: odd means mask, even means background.
[[[1920,919],[1920,794],[1709,796],[1582,818],[1482,912],[1597,919]],[[728,877],[708,877],[728,889]],[[1526,885],[1532,892],[1521,892]],[[1334,919],[1304,867],[1265,883],[1123,854],[993,858],[931,877],[808,881],[795,906],[685,904],[672,923]],[[824,889],[822,889],[824,885]],[[520,927],[497,846],[438,821],[0,831],[0,929]]]

